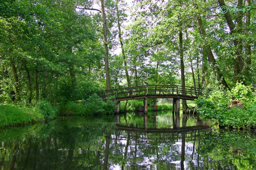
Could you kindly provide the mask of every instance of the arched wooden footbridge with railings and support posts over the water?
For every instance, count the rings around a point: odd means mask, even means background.
[[[202,95],[203,89],[195,87],[182,87],[180,85],[141,85],[134,87],[125,87],[111,89],[100,92],[88,93],[88,95],[97,94],[103,100],[117,100],[117,112],[120,110],[120,101],[144,99],[144,112],[148,111],[148,98],[172,98],[173,111],[180,108],[180,99],[195,100]]]

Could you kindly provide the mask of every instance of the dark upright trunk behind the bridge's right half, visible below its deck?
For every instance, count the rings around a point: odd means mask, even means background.
[[[182,30],[179,33],[179,53],[180,53],[180,73],[181,73],[181,86],[182,86],[182,95],[185,95],[185,69],[184,69],[184,54],[183,54],[183,38],[182,38]],[[182,110],[183,113],[188,111],[188,105],[186,100],[182,100]]]

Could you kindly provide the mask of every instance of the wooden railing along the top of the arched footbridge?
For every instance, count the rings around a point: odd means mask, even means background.
[[[198,97],[199,95],[203,94],[203,89],[187,86],[182,87],[180,85],[141,85],[106,90],[101,92],[92,92],[88,93],[88,95],[91,95],[93,93],[96,93],[103,99],[118,99],[142,95],[185,95],[191,97]]]

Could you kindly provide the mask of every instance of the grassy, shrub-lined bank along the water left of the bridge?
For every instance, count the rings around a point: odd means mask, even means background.
[[[2,104],[0,105],[0,128],[44,122],[58,115],[109,115],[115,110],[115,102],[103,101],[97,95],[92,95],[87,100],[62,102],[53,106],[47,100],[38,101],[30,107]]]

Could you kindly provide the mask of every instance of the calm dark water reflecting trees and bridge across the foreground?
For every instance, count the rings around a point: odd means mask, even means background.
[[[256,136],[170,112],[1,129],[0,169],[256,169]],[[175,117],[175,116],[174,116]]]

